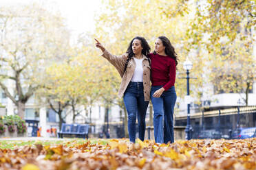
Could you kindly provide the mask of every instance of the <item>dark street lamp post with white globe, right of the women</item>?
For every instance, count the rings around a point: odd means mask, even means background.
[[[186,58],[186,61],[183,63],[183,68],[186,70],[186,94],[187,94],[187,108],[188,108],[188,114],[187,114],[187,122],[186,122],[186,139],[190,140],[191,139],[191,125],[190,125],[190,101],[189,101],[189,70],[192,69],[192,62],[189,61],[188,58]]]

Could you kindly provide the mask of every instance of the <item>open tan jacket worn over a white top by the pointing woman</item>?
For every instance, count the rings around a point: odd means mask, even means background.
[[[118,73],[122,77],[122,82],[121,82],[120,88],[118,90],[118,97],[122,97],[125,93],[125,90],[129,84],[129,82],[131,82],[132,76],[134,75],[134,70],[136,67],[134,57],[132,57],[131,60],[129,60],[127,69],[126,69],[125,73],[123,73],[123,71],[125,69],[125,62],[127,60],[127,57],[125,55],[115,56],[115,55],[109,53],[109,51],[105,50],[104,53],[102,54],[102,56],[104,58],[106,58],[111,64],[113,64],[116,67],[116,69],[118,70]],[[145,97],[145,101],[149,101],[150,89],[151,89],[151,85],[150,85],[150,69],[151,68],[149,66],[149,59],[146,56],[143,56],[143,59],[144,60],[142,61],[142,65],[143,65],[144,97]]]

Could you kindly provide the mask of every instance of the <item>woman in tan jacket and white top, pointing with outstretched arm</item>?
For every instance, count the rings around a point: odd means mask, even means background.
[[[95,39],[96,40],[96,39]],[[145,117],[150,99],[150,47],[145,38],[136,36],[131,40],[127,53],[114,56],[96,40],[96,47],[101,49],[103,57],[113,64],[122,82],[118,91],[119,97],[124,97],[125,108],[128,113],[129,139],[135,143],[136,117],[138,116],[138,132],[141,141],[145,137]]]

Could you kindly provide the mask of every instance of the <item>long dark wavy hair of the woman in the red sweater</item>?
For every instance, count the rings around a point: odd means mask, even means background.
[[[178,56],[177,53],[175,52],[174,47],[171,45],[170,40],[166,36],[159,36],[158,37],[162,41],[162,45],[165,47],[165,53],[167,56],[170,56],[175,60],[176,66],[178,65]],[[153,51],[154,54],[156,54],[156,51]]]

